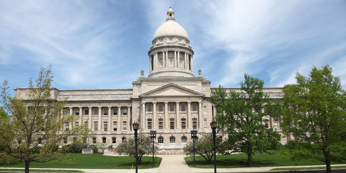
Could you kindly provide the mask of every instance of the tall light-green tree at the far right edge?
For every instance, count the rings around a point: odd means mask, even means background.
[[[346,92],[329,65],[313,66],[308,78],[297,71],[295,79],[297,85],[283,90],[282,130],[301,145],[285,155],[325,162],[330,173],[331,159],[345,160]]]

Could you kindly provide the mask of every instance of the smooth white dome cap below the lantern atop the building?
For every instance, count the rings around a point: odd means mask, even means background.
[[[186,33],[185,29],[174,20],[167,20],[160,27],[158,27],[155,31],[154,39],[166,35],[185,37],[189,39],[188,33]]]

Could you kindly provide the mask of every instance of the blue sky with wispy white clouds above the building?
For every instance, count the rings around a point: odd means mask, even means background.
[[[58,89],[132,88],[169,7],[212,86],[295,83],[329,64],[346,86],[346,1],[0,0],[0,80],[27,87],[53,65]],[[13,93],[13,91],[10,91]]]

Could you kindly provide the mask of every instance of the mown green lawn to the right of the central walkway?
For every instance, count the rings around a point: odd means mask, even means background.
[[[216,155],[216,167],[218,168],[236,168],[236,167],[266,167],[266,166],[304,166],[304,165],[325,165],[324,162],[300,160],[291,161],[287,158],[282,158],[281,151],[269,151],[274,153],[273,155],[263,153],[255,154],[252,156],[252,160],[255,165],[246,165],[247,155],[242,154],[231,154],[231,155]],[[324,157],[321,156],[321,159]],[[185,162],[192,167],[193,156],[185,157]],[[240,163],[239,161],[244,161]],[[201,156],[195,157],[196,168],[214,168],[214,158],[212,158],[211,164]],[[343,164],[342,162],[331,162],[331,164]]]

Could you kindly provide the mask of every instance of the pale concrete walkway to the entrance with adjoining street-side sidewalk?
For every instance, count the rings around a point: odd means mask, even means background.
[[[117,156],[111,154],[110,156]],[[138,173],[213,173],[214,169],[201,169],[189,167],[184,160],[186,155],[156,155],[161,157],[162,161],[158,168],[152,169],[139,169]],[[217,163],[216,163],[217,164]],[[326,165],[310,165],[310,166],[271,166],[271,167],[246,167],[246,168],[219,168],[218,173],[229,173],[229,172],[268,172],[273,168],[279,167],[321,167]],[[338,164],[331,166],[346,166],[346,164]],[[1,169],[22,169],[22,168],[5,168]],[[135,168],[135,166],[134,166]],[[57,169],[57,168],[32,168],[39,170],[79,170],[85,173],[135,173],[136,170],[124,170],[124,169]]]

